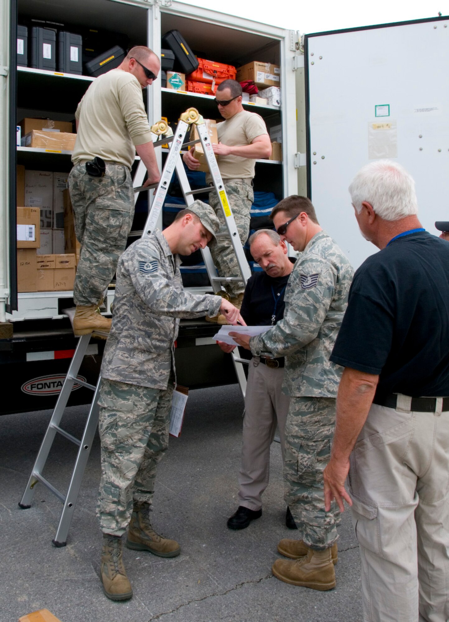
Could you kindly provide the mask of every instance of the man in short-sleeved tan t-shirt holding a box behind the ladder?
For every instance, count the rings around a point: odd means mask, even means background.
[[[249,235],[249,212],[254,193],[252,179],[257,159],[271,155],[271,141],[265,121],[259,114],[244,110],[242,88],[236,80],[224,80],[216,91],[218,112],[224,118],[217,125],[218,144],[213,144],[218,167],[224,182],[229,204],[239,231],[241,243],[246,243]],[[190,170],[198,170],[200,162],[188,151],[183,160]],[[206,175],[206,182],[211,176]],[[210,205],[220,220],[220,233],[228,233],[220,202],[215,192],[210,194]],[[212,256],[220,276],[239,276],[239,267],[231,240],[220,237]],[[239,282],[226,284],[226,297],[240,308],[243,300],[244,285]],[[213,322],[226,323],[223,315],[210,318]]]

